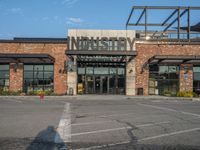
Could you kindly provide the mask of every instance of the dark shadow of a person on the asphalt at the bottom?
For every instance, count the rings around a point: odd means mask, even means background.
[[[26,150],[67,150],[67,146],[55,128],[49,126],[47,129],[38,133]]]

